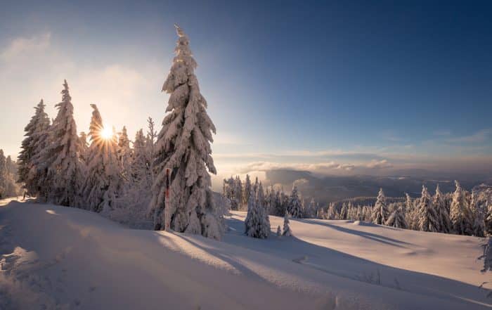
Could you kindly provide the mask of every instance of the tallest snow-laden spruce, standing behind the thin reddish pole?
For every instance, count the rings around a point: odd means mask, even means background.
[[[162,86],[170,93],[162,129],[155,145],[150,210],[154,229],[201,233],[220,239],[223,214],[214,205],[209,172],[216,174],[212,160],[215,126],[207,114],[207,101],[195,76],[197,64],[188,47],[188,37],[176,26],[179,39],[171,71]],[[166,198],[166,169],[171,169],[169,199]],[[207,171],[208,169],[208,171]]]

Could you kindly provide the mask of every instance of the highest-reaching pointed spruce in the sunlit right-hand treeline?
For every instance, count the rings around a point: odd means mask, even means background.
[[[451,224],[453,232],[458,235],[472,235],[472,214],[470,203],[467,200],[465,190],[463,190],[458,181],[455,181],[456,190],[453,193],[453,202],[450,207]]]

